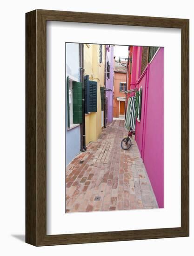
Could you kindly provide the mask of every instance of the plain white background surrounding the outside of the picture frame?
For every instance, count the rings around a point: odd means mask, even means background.
[[[0,253],[3,256],[192,255],[194,157],[190,160],[190,237],[35,248],[25,244],[25,13],[33,9],[117,13],[190,19],[190,154],[194,155],[194,15],[192,1],[1,1],[0,24]],[[8,15],[8,16],[7,16]],[[117,220],[119,221],[119,220]]]

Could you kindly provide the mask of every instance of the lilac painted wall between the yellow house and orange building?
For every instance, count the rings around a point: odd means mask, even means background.
[[[106,77],[106,88],[111,89],[111,92],[106,92],[106,97],[108,100],[108,116],[107,122],[111,123],[113,121],[113,77],[114,77],[114,46],[106,45],[106,62],[109,61],[110,65],[110,78]],[[106,63],[107,65],[107,63]]]

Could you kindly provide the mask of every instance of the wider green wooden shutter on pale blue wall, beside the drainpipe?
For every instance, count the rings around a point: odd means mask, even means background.
[[[82,123],[82,83],[73,82],[73,122]]]

